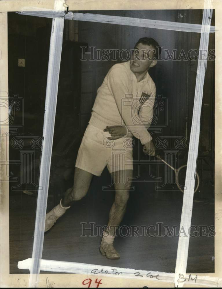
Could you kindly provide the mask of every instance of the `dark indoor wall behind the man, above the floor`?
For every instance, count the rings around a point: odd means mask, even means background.
[[[203,15],[202,10],[78,12],[196,24],[201,24]],[[42,137],[51,23],[52,20],[48,18],[23,16],[15,12],[8,13],[9,95],[10,98],[13,98],[14,94],[18,95],[23,99],[24,104],[23,113],[16,112],[13,120],[16,124],[19,118],[23,117],[24,125],[18,127],[17,132],[12,136]],[[214,14],[212,25],[214,25]],[[185,55],[190,49],[199,49],[200,34],[198,33],[65,20],[49,196],[54,197],[54,191],[55,188],[58,191],[58,185],[62,193],[72,183],[75,158],[91,116],[96,91],[109,68],[117,62],[122,62],[118,54],[116,54],[117,60],[115,61],[111,59],[80,61],[81,46],[95,46],[95,49],[130,50],[133,49],[135,42],[144,36],[152,37],[159,42],[162,46],[162,55],[164,49],[168,49],[169,53],[176,49],[177,56],[182,49]],[[210,34],[209,49],[214,49],[214,34]],[[88,48],[87,52],[89,51]],[[25,59],[25,66],[18,66],[18,59]],[[163,112],[158,109],[159,116],[150,131],[153,133],[154,140],[166,139],[166,149],[175,148],[175,138],[185,140],[184,147],[179,149],[178,166],[186,164],[188,156],[196,71],[197,60],[159,60],[157,65],[149,71],[156,84],[157,96],[165,101]],[[25,148],[28,149],[29,145],[29,140],[25,139]],[[35,184],[38,184],[40,148],[36,148],[34,153]],[[14,159],[19,157],[17,147],[11,147],[11,156]],[[205,75],[198,156],[197,168],[202,179],[201,184],[213,186],[213,61],[208,61]],[[11,170],[12,175],[21,177],[22,172],[19,171],[19,166]],[[28,186],[28,184],[17,187],[18,190],[27,188],[36,190],[36,186]],[[200,196],[209,197],[209,193],[205,194],[202,190]],[[210,196],[213,197],[213,191]]]

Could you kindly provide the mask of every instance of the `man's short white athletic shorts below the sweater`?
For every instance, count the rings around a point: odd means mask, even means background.
[[[133,139],[109,140],[109,131],[88,125],[78,151],[76,167],[100,176],[105,166],[110,173],[133,169]]]

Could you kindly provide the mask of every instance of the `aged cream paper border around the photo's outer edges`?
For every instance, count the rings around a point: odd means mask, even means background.
[[[45,1],[13,1],[13,6],[10,5],[11,1],[2,1],[1,2],[1,95],[2,92],[8,92],[8,63],[7,63],[7,12],[6,11],[19,11],[21,9],[21,7],[24,6],[36,6],[38,5],[38,7],[44,7],[44,8],[48,8],[48,9],[53,9],[54,6],[54,1],[47,1],[47,3]],[[18,3],[19,2],[19,3]],[[84,3],[85,1],[79,1],[78,3],[74,3],[73,1],[66,1],[67,5],[69,5],[69,10],[104,10],[104,7],[102,7],[102,5],[104,5],[104,1],[89,1],[87,3]],[[163,3],[167,3],[167,5],[163,5]],[[126,1],[126,3],[124,3],[124,1],[122,1],[121,3],[121,7],[117,7],[118,4],[115,3],[115,10],[120,9],[120,10],[124,10],[124,9],[162,9],[162,7],[167,7],[168,9],[203,9],[203,3],[204,1],[196,1],[195,4],[190,2],[190,4],[188,3],[188,1],[184,2],[184,1],[171,1],[169,3],[169,1],[149,1],[146,2],[144,4],[144,1],[138,1],[137,3],[129,3]],[[84,6],[85,4],[85,6]],[[125,7],[126,4],[126,7]],[[130,7],[129,7],[130,6]],[[152,7],[149,8],[148,6]],[[218,20],[217,15],[220,15],[220,3],[219,1],[214,1],[213,2],[213,9],[215,9],[215,18],[216,21]],[[106,1],[106,9],[105,10],[113,10],[113,4],[112,2],[107,2]],[[218,23],[218,21],[215,23],[216,27],[221,27],[220,23]],[[219,51],[219,44],[221,42],[221,40],[219,41],[219,39],[221,39],[220,37],[220,30],[217,31],[215,34],[215,49],[216,51]],[[217,49],[218,48],[218,49]],[[221,268],[219,268],[219,266],[221,266],[221,249],[220,246],[217,246],[220,244],[220,240],[221,240],[221,228],[220,228],[220,221],[221,221],[221,209],[220,209],[220,203],[221,203],[221,164],[220,164],[220,158],[218,158],[218,156],[221,154],[221,147],[219,147],[219,136],[220,134],[220,121],[219,121],[219,115],[220,114],[220,101],[221,101],[221,95],[220,95],[220,90],[219,90],[219,64],[220,64],[220,56],[216,55],[216,63],[215,63],[215,75],[218,76],[218,78],[216,77],[216,81],[215,81],[215,155],[217,156],[217,158],[215,158],[215,226],[216,226],[216,235],[215,235],[215,273],[214,274],[207,274],[207,276],[215,276],[215,277],[221,277]],[[2,119],[4,119],[4,113],[6,113],[6,115],[8,114],[7,110],[3,110],[1,111],[1,115],[2,115]],[[1,128],[1,160],[6,160],[6,153],[7,153],[7,149],[6,143],[8,143],[7,138],[5,138],[5,135],[7,133],[7,128],[3,127],[3,129]],[[8,154],[7,154],[8,155]],[[1,176],[3,176],[3,178],[5,179],[5,177],[8,175],[6,173],[6,170],[8,169],[8,167],[6,166],[1,166]],[[2,286],[7,286],[7,287],[22,287],[25,286],[27,287],[27,277],[28,274],[16,274],[16,275],[10,275],[9,276],[9,234],[8,234],[8,191],[9,187],[8,187],[8,182],[4,181],[1,182],[1,248],[4,248],[4,254],[3,251],[1,250],[1,280],[3,280],[4,283],[2,283]],[[7,252],[7,253],[5,253]],[[6,259],[6,260],[5,260]],[[151,268],[148,268],[151,269]],[[47,274],[41,274],[40,275],[40,279],[39,279],[39,287],[45,287],[45,279],[46,277],[43,277],[43,275],[47,275]],[[54,276],[55,275],[55,276]],[[77,280],[76,277],[77,275],[73,275],[73,274],[67,274],[69,277],[71,277],[71,279],[73,281],[71,281],[71,283],[67,280],[67,278],[64,278],[64,274],[60,275],[59,274],[50,274],[50,279],[53,279],[53,281],[56,283],[56,287],[59,287],[59,284],[62,284],[63,286],[69,287],[68,284],[70,284],[70,286],[77,286]],[[71,275],[71,276],[70,276]],[[192,274],[194,275],[194,274]],[[204,274],[198,274],[198,275],[203,275]],[[8,276],[8,279],[12,279],[11,281],[6,282],[5,283],[5,277]],[[15,278],[15,276],[17,276],[17,278]],[[18,277],[19,276],[19,277]],[[67,276],[67,277],[68,277]],[[86,275],[85,275],[86,276]],[[84,276],[84,278],[85,278]],[[63,277],[63,278],[61,278]],[[144,286],[149,286],[149,287],[159,287],[159,286],[167,286],[165,283],[159,283],[159,282],[155,282],[155,281],[150,281],[148,279],[146,279],[145,281],[142,280],[124,280],[124,279],[119,279],[118,280],[116,278],[110,278],[110,277],[106,277],[103,276],[102,277],[103,280],[105,279],[111,279],[111,283],[113,287],[117,287],[117,286],[124,286],[124,282],[126,282],[125,284],[127,284],[127,286],[129,286],[130,282],[130,286],[131,287],[138,287],[139,284],[145,284]],[[19,280],[18,280],[19,279]],[[60,281],[62,281],[62,283],[58,283],[56,282],[56,279],[59,279]],[[80,275],[80,279],[82,280],[82,276]],[[116,282],[117,281],[117,282]],[[22,283],[21,283],[22,282]],[[25,282],[25,283],[23,283]],[[43,282],[43,283],[42,283]],[[117,283],[117,286],[115,286],[115,282]],[[41,284],[43,286],[41,286]],[[108,286],[110,286],[109,282],[107,283]],[[156,285],[155,285],[156,284]],[[81,286],[81,282],[79,284]],[[103,283],[104,286],[104,283]],[[172,284],[170,283],[169,285],[170,287],[172,286]],[[187,287],[187,284],[184,285],[184,287]]]

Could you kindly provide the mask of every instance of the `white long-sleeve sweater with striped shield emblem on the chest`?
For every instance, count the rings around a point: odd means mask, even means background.
[[[137,82],[130,61],[114,64],[97,90],[89,123],[100,129],[125,125],[127,136],[133,135],[145,144],[152,139],[147,129],[153,118],[155,94],[156,87],[148,72]]]

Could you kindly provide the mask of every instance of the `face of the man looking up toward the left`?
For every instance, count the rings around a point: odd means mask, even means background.
[[[134,73],[148,71],[149,67],[157,63],[154,60],[154,48],[152,45],[137,44],[134,50],[133,59],[130,60],[130,69]]]

